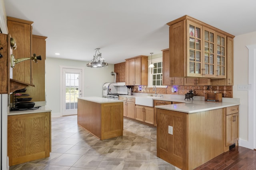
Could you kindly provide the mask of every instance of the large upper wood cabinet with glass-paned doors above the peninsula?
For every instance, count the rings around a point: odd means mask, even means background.
[[[227,57],[232,48],[227,37],[233,39],[233,35],[189,16],[167,24],[170,77],[227,77]]]

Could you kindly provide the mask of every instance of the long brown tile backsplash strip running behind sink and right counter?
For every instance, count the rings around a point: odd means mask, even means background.
[[[132,86],[133,92],[136,93],[155,93],[153,88],[147,86]],[[176,92],[172,92],[172,88],[176,89]],[[205,93],[222,93],[224,98],[233,98],[233,86],[167,86],[167,88],[156,88],[157,94],[172,94],[184,96],[190,90],[193,91],[194,96],[204,96]]]

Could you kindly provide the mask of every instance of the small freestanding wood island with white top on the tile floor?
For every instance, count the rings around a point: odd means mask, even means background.
[[[78,98],[78,125],[100,140],[123,135],[123,101],[100,97]]]

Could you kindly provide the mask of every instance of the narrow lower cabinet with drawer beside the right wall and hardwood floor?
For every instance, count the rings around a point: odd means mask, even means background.
[[[226,107],[226,142],[225,152],[229,146],[238,145],[239,139],[239,106]]]

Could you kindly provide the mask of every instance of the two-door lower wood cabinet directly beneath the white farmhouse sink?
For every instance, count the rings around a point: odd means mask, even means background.
[[[135,119],[154,125],[154,107],[136,105]]]

